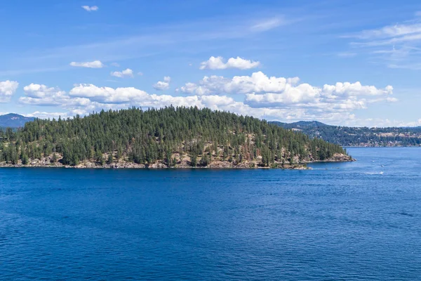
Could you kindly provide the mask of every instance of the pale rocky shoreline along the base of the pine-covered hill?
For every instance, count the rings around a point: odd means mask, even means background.
[[[163,162],[156,162],[153,164],[136,164],[133,162],[128,162],[124,160],[119,160],[119,162],[113,162],[111,164],[93,161],[84,161],[76,166],[69,166],[60,163],[60,159],[57,162],[52,162],[51,157],[43,157],[41,159],[32,159],[29,160],[28,164],[11,164],[6,162],[0,162],[0,168],[71,168],[71,169],[295,169],[295,170],[307,170],[312,169],[308,167],[307,164],[314,162],[352,162],[356,161],[348,155],[334,155],[330,159],[323,161],[308,161],[300,162],[297,164],[290,163],[280,163],[275,162],[272,166],[260,166],[259,161],[246,161],[238,164],[234,164],[229,161],[213,161],[208,166],[190,166],[189,162],[182,161],[175,166],[168,166]]]

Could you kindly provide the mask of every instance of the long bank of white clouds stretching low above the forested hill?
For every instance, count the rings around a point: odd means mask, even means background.
[[[169,88],[170,77],[164,77],[154,88]],[[283,121],[318,119],[324,122],[351,122],[354,110],[373,103],[393,103],[393,87],[363,85],[360,82],[338,82],[312,86],[300,83],[298,77],[268,77],[263,72],[250,76],[203,77],[177,89],[184,96],[147,93],[135,87],[106,87],[94,84],[75,85],[68,93],[55,87],[30,84],[24,87],[20,103],[59,106],[69,115],[84,115],[102,109],[127,107],[197,106],[227,110],[240,115]]]

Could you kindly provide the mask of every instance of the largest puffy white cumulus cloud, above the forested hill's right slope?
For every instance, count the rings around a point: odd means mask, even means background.
[[[308,115],[323,112],[352,112],[367,108],[368,103],[395,102],[392,86],[378,89],[360,82],[338,82],[322,87],[299,84],[298,77],[267,77],[262,72],[228,79],[221,76],[203,77],[199,83],[187,83],[178,89],[196,96],[243,94],[245,105],[253,108],[305,110]]]

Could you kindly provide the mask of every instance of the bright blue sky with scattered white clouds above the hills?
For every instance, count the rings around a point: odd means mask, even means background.
[[[0,112],[421,125],[420,1],[5,1]]]

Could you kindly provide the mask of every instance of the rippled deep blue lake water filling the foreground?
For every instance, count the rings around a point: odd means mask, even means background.
[[[0,280],[421,280],[421,148],[348,151],[312,171],[0,169]]]

